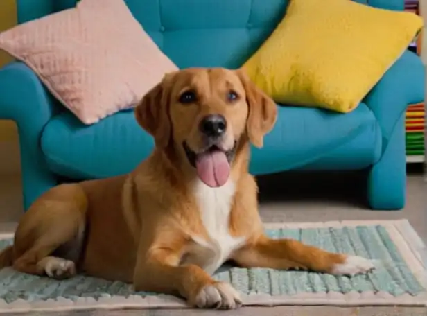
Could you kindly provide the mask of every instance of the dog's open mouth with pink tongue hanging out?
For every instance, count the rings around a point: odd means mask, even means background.
[[[202,152],[194,152],[184,141],[182,147],[191,166],[197,170],[198,177],[204,184],[217,188],[227,182],[230,173],[230,164],[236,152],[236,142],[230,150],[223,150],[219,146],[209,146]]]

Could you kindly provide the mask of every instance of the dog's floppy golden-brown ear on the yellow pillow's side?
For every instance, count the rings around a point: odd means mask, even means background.
[[[247,116],[247,135],[254,146],[263,146],[263,137],[272,130],[277,120],[277,105],[246,75],[243,69],[236,70],[246,91],[246,103],[249,107]]]

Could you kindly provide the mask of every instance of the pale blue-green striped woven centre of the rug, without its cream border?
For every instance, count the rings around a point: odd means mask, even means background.
[[[418,295],[425,289],[403,260],[387,229],[381,225],[357,227],[320,227],[271,229],[272,238],[293,238],[332,252],[356,254],[381,260],[376,270],[355,277],[336,277],[330,274],[271,269],[245,269],[222,267],[214,278],[227,281],[243,295],[297,295],[317,292],[385,292],[393,297]],[[11,240],[0,241],[0,249]],[[132,292],[132,286],[121,282],[105,281],[78,276],[56,281],[46,277],[15,272],[10,267],[0,270],[0,301],[12,303],[17,299],[40,301],[63,297],[76,301],[81,297],[142,297],[155,293]]]

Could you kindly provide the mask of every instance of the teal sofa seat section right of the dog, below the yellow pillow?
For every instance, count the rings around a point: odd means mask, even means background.
[[[253,174],[310,170],[358,170],[381,157],[381,129],[364,104],[348,114],[305,107],[279,107],[264,147],[253,148]]]

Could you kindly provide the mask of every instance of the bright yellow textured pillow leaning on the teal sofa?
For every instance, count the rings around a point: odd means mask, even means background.
[[[277,103],[350,112],[422,26],[413,13],[351,0],[290,0],[243,68]]]

